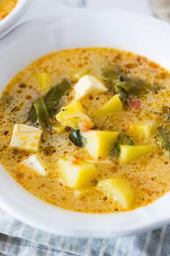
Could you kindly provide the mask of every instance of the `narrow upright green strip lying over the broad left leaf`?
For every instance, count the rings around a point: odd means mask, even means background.
[[[34,107],[37,114],[37,119],[42,129],[46,130],[47,132],[51,132],[52,126],[50,122],[50,117],[48,115],[48,111],[42,97],[38,98],[35,101]]]

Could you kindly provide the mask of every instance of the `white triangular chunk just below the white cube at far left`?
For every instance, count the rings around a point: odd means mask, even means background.
[[[29,158],[19,163],[19,167],[30,169],[42,176],[46,175],[44,163],[42,163],[40,156],[37,154],[31,155]]]

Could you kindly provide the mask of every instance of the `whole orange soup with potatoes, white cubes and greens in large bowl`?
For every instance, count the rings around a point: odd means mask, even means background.
[[[1,164],[59,208],[115,213],[170,188],[170,75],[113,48],[43,56],[1,95]]]

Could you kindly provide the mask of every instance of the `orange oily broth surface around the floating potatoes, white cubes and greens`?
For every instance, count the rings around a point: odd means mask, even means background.
[[[40,95],[37,92],[35,72],[49,72],[52,75],[51,86],[53,86],[61,82],[63,78],[76,82],[72,75],[73,71],[82,67],[88,67],[91,70],[90,74],[102,79],[101,69],[112,64],[119,64],[136,77],[151,83],[154,81],[155,84],[159,83],[164,88],[157,94],[151,92],[140,98],[142,100],[140,108],[130,108],[120,114],[108,115],[105,118],[97,116],[95,111],[103,106],[112,95],[96,93],[92,97],[88,96],[81,100],[81,103],[94,123],[102,129],[118,129],[122,132],[127,132],[129,125],[136,121],[154,121],[156,125],[162,124],[164,120],[159,113],[162,106],[169,105],[169,73],[158,64],[154,64],[142,56],[115,49],[78,48],[58,51],[45,56],[17,74],[12,82],[6,86],[2,95],[0,113],[0,159],[2,166],[33,195],[60,208],[89,213],[113,213],[123,210],[120,205],[107,199],[96,189],[93,189],[90,195],[77,198],[73,189],[63,186],[57,174],[58,158],[79,156],[90,159],[84,149],[76,148],[68,140],[68,132],[63,132],[59,136],[42,135],[40,155],[46,163],[48,176],[35,176],[31,171],[19,169],[18,163],[27,158],[29,154],[9,149],[13,126],[14,124],[25,124],[27,112],[32,102]],[[67,104],[72,99],[73,95],[70,93],[63,101]],[[138,144],[157,143],[158,145],[154,131],[148,141],[133,135],[130,136]],[[112,154],[105,161],[97,163],[99,169],[97,180],[120,176],[129,182],[135,195],[134,208],[148,205],[169,191],[169,156],[158,146],[152,154],[144,155],[128,164],[120,163]],[[96,182],[94,181],[93,184]]]

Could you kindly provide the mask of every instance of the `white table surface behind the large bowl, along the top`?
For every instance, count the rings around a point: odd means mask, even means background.
[[[89,9],[124,9],[141,14],[153,15],[151,0],[33,0],[30,8],[17,22],[15,27],[22,22],[50,17],[66,12],[77,7]]]

